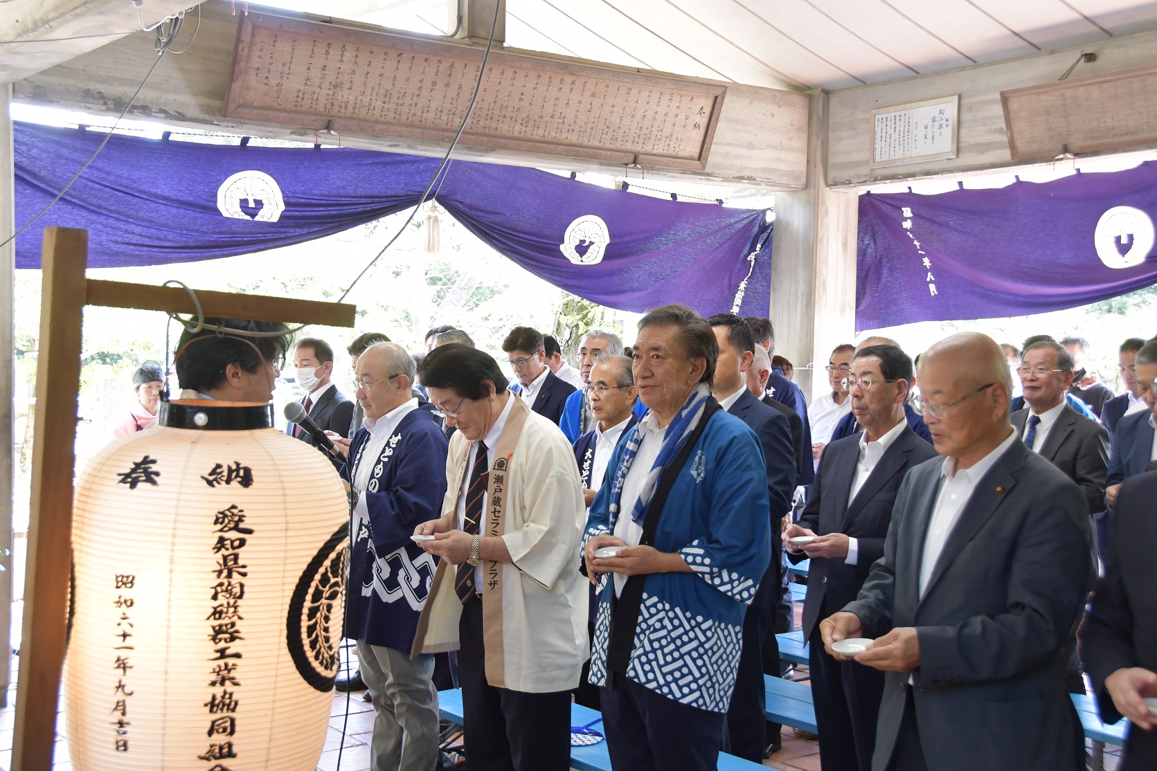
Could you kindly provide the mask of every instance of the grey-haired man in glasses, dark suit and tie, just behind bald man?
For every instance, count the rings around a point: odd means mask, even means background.
[[[1069,351],[1051,340],[1036,342],[1022,354],[1017,373],[1027,406],[1012,413],[1012,428],[1026,447],[1076,482],[1090,514],[1105,511],[1108,431],[1064,400],[1073,381]]]

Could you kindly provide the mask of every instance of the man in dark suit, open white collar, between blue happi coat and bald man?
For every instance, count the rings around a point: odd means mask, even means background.
[[[852,363],[852,410],[864,430],[825,447],[803,517],[783,532],[789,558],[811,558],[803,630],[811,643],[811,692],[825,769],[870,771],[884,674],[837,661],[819,621],[856,599],[884,554],[896,491],[909,468],[935,458],[904,418],[912,359],[894,346],[863,348]],[[818,536],[804,546],[788,539]]]

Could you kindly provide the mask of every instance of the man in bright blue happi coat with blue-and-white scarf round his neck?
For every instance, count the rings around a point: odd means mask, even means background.
[[[767,469],[752,430],[712,396],[717,357],[715,333],[687,307],[640,320],[634,379],[650,412],[590,507],[590,682],[603,687],[616,769],[716,768],[744,611],[771,559]],[[627,548],[595,557],[609,546]]]

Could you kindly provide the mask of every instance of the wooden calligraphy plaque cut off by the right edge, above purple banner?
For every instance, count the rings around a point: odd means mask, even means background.
[[[1157,67],[1001,91],[1014,161],[1157,144]]]

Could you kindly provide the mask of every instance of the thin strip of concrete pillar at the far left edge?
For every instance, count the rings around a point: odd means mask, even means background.
[[[15,164],[13,161],[12,83],[0,86],[0,242],[15,232]],[[0,706],[8,706],[12,680],[12,502],[13,502],[13,396],[15,388],[15,325],[13,280],[16,274],[16,243],[0,246]],[[3,553],[0,553],[2,555]]]

